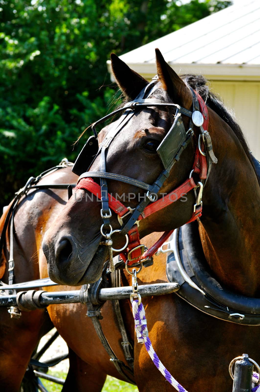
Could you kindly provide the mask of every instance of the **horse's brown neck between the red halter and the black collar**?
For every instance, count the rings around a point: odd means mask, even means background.
[[[199,225],[206,260],[229,289],[260,294],[260,187],[236,134],[211,114],[213,150],[218,158],[203,194]]]

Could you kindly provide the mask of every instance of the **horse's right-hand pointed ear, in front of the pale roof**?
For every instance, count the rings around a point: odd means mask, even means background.
[[[189,87],[181,80],[175,71],[164,60],[159,49],[155,49],[157,74],[162,88],[167,91],[174,103],[190,109],[192,104],[192,93]]]

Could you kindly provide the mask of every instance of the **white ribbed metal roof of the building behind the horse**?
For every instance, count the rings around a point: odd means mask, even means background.
[[[120,58],[154,64],[156,47],[169,64],[260,65],[260,1],[231,5]]]

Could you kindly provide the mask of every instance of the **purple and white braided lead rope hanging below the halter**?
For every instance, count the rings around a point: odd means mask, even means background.
[[[135,319],[135,332],[137,335],[137,341],[138,343],[144,343],[145,348],[150,355],[153,363],[157,367],[158,370],[160,370],[162,376],[166,378],[166,380],[179,392],[188,392],[185,388],[181,386],[181,384],[178,383],[175,378],[168,372],[166,367],[161,363],[160,359],[158,358],[156,352],[153,350],[152,343],[150,339],[148,338],[148,329],[146,325],[146,318],[145,318],[145,312],[144,312],[144,306],[142,303],[138,305],[138,300],[134,300],[132,302],[132,310],[133,310],[133,316]]]

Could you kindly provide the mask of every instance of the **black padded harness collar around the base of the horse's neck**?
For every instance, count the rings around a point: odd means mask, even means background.
[[[167,243],[165,244],[167,245]],[[246,297],[223,287],[209,269],[198,225],[193,222],[175,230],[168,242],[166,273],[181,286],[176,293],[193,307],[218,319],[243,325],[260,325],[259,298]]]

